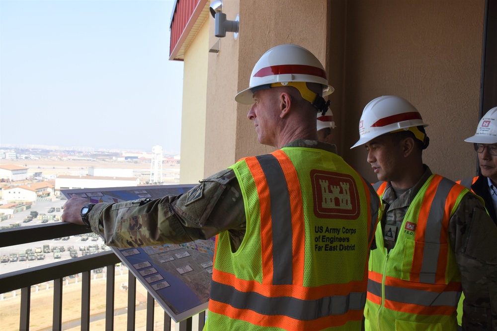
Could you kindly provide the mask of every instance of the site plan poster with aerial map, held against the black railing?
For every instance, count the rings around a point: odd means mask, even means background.
[[[192,187],[194,185],[151,185],[60,191],[67,199],[82,197],[99,203],[157,199],[185,193]],[[180,245],[111,249],[174,322],[179,322],[207,309],[214,243],[211,238]]]

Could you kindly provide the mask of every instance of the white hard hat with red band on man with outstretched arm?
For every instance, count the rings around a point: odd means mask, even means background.
[[[311,52],[297,45],[285,44],[271,48],[260,57],[250,74],[248,88],[238,93],[235,100],[250,105],[253,103],[252,94],[255,87],[267,86],[269,88],[274,83],[280,83],[279,86],[295,86],[291,82],[321,84],[323,86],[322,96],[329,95],[334,90],[331,85],[328,85],[325,68]],[[302,97],[309,100],[304,96],[302,89],[297,88]],[[314,98],[315,93],[312,94]],[[309,102],[313,103],[312,100]]]

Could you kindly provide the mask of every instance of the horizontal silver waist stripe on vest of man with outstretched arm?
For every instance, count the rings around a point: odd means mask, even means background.
[[[364,309],[366,293],[352,292],[349,295],[317,300],[301,300],[289,296],[270,298],[254,292],[241,292],[233,286],[212,281],[211,299],[266,316],[284,315],[300,321],[314,321],[330,315],[345,314],[349,310]]]

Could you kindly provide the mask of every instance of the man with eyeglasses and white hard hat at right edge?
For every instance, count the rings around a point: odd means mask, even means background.
[[[464,141],[473,142],[482,174],[463,179],[460,184],[482,197],[490,217],[497,225],[497,107],[485,114],[478,123],[475,135]]]

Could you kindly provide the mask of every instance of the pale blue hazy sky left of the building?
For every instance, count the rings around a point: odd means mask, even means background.
[[[0,147],[179,152],[174,0],[0,0]]]

